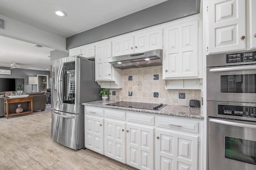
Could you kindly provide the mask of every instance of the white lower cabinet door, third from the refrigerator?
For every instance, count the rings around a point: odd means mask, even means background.
[[[140,170],[154,169],[154,127],[127,123],[126,164]]]

